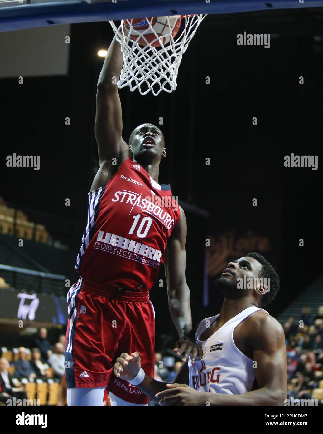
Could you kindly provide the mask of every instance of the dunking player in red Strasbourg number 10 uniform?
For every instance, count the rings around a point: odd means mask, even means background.
[[[145,372],[153,375],[155,322],[148,293],[164,261],[179,353],[184,358],[202,355],[188,338],[192,324],[184,212],[170,185],[158,183],[159,164],[166,157],[163,134],[147,123],[134,129],[129,146],[121,137],[121,102],[113,79],[122,64],[114,38],[97,87],[100,168],[88,194],[88,224],[75,266],[81,277],[68,294],[69,405],[102,405],[106,385],[116,405],[148,404],[143,392],[114,377],[113,366],[116,354],[136,349]]]

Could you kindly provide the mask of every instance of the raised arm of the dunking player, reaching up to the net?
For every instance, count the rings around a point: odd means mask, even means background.
[[[100,169],[92,189],[108,182],[129,154],[128,145],[121,137],[122,111],[116,84],[122,65],[121,47],[114,37],[97,84],[95,138],[98,143]],[[112,164],[113,158],[116,158],[116,164]]]

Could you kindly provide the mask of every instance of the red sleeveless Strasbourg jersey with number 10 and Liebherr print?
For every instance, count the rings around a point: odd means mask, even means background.
[[[180,218],[169,184],[125,160],[108,184],[88,193],[88,224],[75,269],[109,287],[149,290]]]

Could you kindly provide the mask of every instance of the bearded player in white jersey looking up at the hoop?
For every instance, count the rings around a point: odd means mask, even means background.
[[[240,289],[238,279],[248,277],[256,284]],[[270,287],[254,279],[260,277],[270,278]],[[221,313],[196,326],[201,360],[189,357],[168,384],[144,374],[137,352],[123,353],[114,374],[160,405],[284,405],[284,330],[262,309],[279,289],[277,273],[259,253],[248,253],[228,263],[217,286],[225,297]]]

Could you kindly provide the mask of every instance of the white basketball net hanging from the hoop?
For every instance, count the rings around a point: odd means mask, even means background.
[[[164,19],[163,36],[154,30],[151,17],[144,19],[148,28],[140,31],[134,29],[133,20],[122,20],[119,28],[109,21],[121,44],[124,59],[118,87],[129,86],[131,91],[138,89],[141,95],[148,92],[158,95],[162,90],[173,92],[183,53],[205,17],[206,14],[182,16],[181,27],[175,36],[174,29],[180,16],[160,17]],[[154,46],[156,43],[160,46]]]

